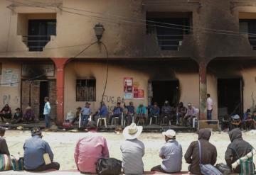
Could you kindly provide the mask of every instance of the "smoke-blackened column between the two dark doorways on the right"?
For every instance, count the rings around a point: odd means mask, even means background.
[[[206,120],[206,62],[199,63],[199,120]]]

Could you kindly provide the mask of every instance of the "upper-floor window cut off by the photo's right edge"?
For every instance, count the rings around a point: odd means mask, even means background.
[[[256,19],[240,19],[240,33],[249,33],[248,38],[253,50],[256,50]]]

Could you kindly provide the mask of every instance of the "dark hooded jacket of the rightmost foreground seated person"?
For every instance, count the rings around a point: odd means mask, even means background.
[[[252,151],[252,146],[245,142],[245,140],[242,140],[242,132],[239,128],[235,128],[228,132],[228,135],[230,137],[230,145],[228,145],[228,148],[225,152],[225,161],[227,162],[227,165],[230,166],[240,157],[244,157],[246,154]],[[238,152],[238,156],[235,153]],[[235,173],[240,173],[240,166],[238,166],[235,169]]]

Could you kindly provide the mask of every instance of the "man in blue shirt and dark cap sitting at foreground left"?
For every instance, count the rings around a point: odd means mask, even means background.
[[[25,141],[24,149],[24,168],[26,171],[46,171],[49,169],[60,169],[58,162],[53,162],[53,152],[48,142],[42,139],[43,135],[40,128],[31,130],[31,138]],[[44,154],[50,157],[50,164],[46,164]]]

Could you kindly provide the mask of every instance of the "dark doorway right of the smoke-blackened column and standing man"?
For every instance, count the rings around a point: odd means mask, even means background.
[[[243,113],[242,79],[218,79],[218,108],[226,108],[228,115]]]

